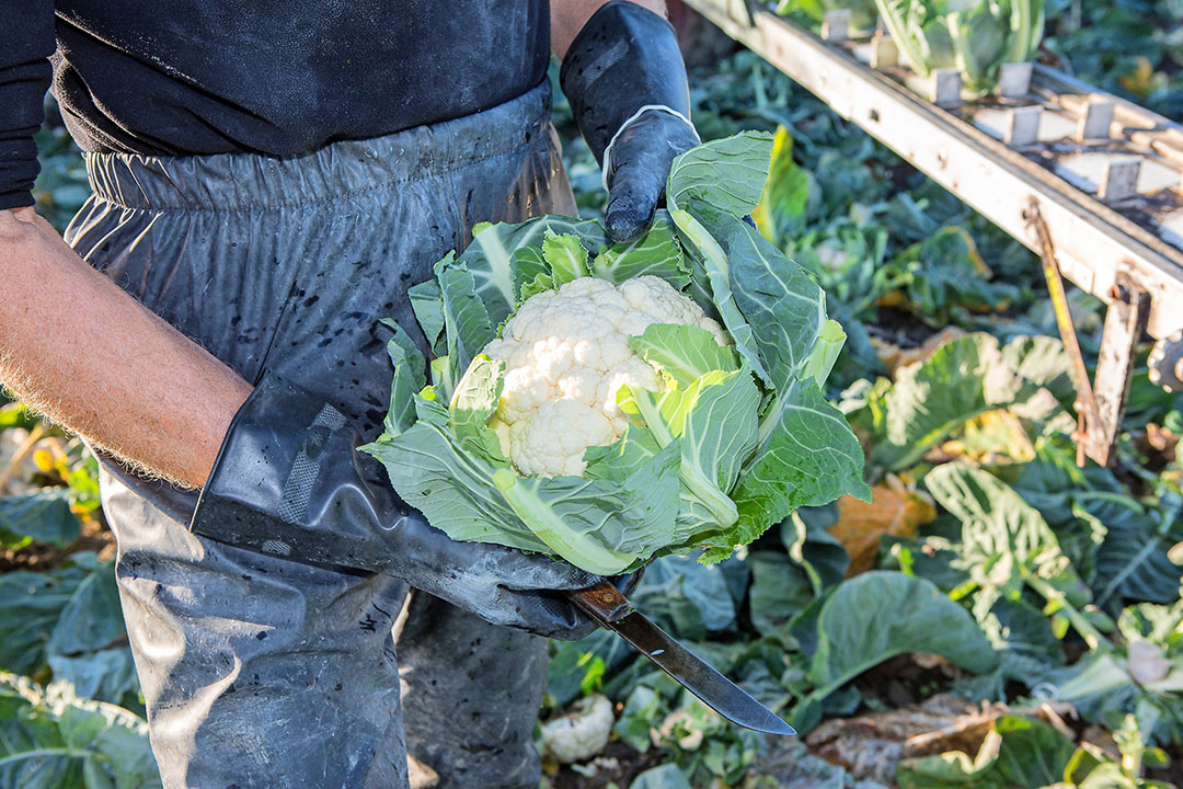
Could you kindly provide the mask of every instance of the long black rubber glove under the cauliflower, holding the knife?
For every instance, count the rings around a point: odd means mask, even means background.
[[[408,507],[332,406],[265,375],[238,412],[190,528],[296,562],[402,578],[505,627],[575,640],[595,629],[558,589],[600,578],[567,562],[450,539]]]

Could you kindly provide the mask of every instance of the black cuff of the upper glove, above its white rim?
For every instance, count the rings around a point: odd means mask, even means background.
[[[668,111],[690,124],[686,66],[673,26],[635,2],[613,0],[592,14],[563,58],[558,82],[601,164],[620,131],[646,111]]]

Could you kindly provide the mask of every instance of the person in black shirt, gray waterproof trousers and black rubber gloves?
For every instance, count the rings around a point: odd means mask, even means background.
[[[427,349],[407,289],[476,222],[575,213],[551,51],[642,232],[697,142],[661,11],[4,0],[0,381],[103,458],[166,787],[538,785],[538,636],[592,628],[545,590],[595,578],[450,541],[354,447],[379,319]],[[65,242],[30,194],[51,78],[93,188]]]

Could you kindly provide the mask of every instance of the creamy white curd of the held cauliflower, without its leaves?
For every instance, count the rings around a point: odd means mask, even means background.
[[[582,476],[584,450],[623,435],[616,392],[659,387],[657,370],[628,345],[654,323],[699,326],[729,344],[718,323],[659,277],[620,285],[580,277],[526,299],[484,349],[505,362],[491,426],[518,472]]]

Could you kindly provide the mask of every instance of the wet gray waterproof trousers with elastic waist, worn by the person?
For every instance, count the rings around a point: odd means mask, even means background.
[[[66,240],[254,381],[266,367],[381,432],[393,316],[473,224],[575,213],[549,86],[295,159],[91,155]],[[95,331],[102,331],[95,326]],[[129,349],[134,353],[134,349]],[[104,467],[103,507],[168,789],[538,785],[547,645],[390,577],[190,533],[195,497]]]

